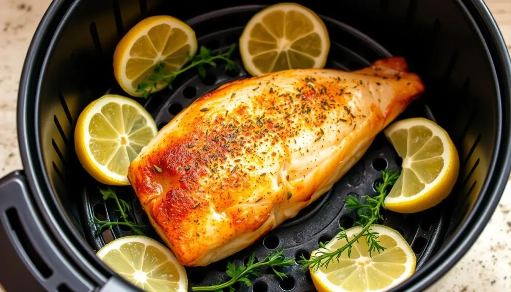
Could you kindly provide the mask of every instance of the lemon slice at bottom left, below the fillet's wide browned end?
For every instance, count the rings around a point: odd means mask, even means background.
[[[112,240],[97,256],[114,272],[147,292],[186,292],[188,279],[176,257],[146,236]]]

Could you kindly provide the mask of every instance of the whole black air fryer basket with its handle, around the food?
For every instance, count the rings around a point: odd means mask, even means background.
[[[112,54],[138,21],[171,15],[196,32],[199,44],[225,50],[237,42],[248,19],[265,6],[236,1],[181,3],[166,0],[55,0],[32,41],[20,82],[18,134],[24,171],[0,182],[0,282],[14,291],[134,291],[95,255],[111,238],[131,234],[114,227],[96,235],[92,215],[116,220],[98,183],[74,151],[81,110],[105,93],[126,94],[112,74]],[[419,291],[442,277],[469,249],[493,213],[509,174],[511,70],[507,50],[489,11],[478,0],[346,0],[301,3],[318,13],[331,37],[327,68],[356,70],[375,60],[403,56],[426,93],[399,117],[427,117],[444,127],[460,156],[457,184],[440,205],[416,214],[385,213],[417,256],[417,271],[393,290]],[[235,56],[242,69],[239,55]],[[210,68],[204,79],[180,76],[173,90],[136,99],[158,127],[222,83],[245,78]],[[363,158],[332,190],[248,248],[206,267],[187,267],[189,287],[225,277],[227,260],[241,263],[284,248],[298,257],[329,240],[356,214],[343,200],[375,194],[379,170],[401,162],[380,134]],[[131,187],[134,220],[147,216]],[[159,239],[154,231],[150,236]],[[263,271],[264,272],[264,271]],[[267,273],[237,291],[315,291],[298,264],[279,281]],[[189,288],[190,290],[190,288]]]

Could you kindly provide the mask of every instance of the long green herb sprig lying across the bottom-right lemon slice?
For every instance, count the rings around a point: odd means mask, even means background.
[[[383,215],[380,213],[380,208],[385,208],[385,197],[387,196],[387,189],[396,183],[399,178],[399,171],[383,170],[382,171],[382,183],[376,185],[376,191],[378,195],[375,197],[363,196],[366,203],[362,203],[357,197],[349,196],[344,200],[346,208],[349,210],[357,210],[358,221],[357,223],[362,226],[362,231],[355,237],[350,239],[346,234],[344,228],[340,228],[340,233],[337,235],[337,239],[345,239],[347,242],[337,250],[328,252],[325,243],[319,243],[321,250],[311,255],[310,259],[307,259],[303,255],[301,260],[298,261],[302,268],[311,267],[318,269],[321,266],[328,267],[328,265],[335,259],[339,261],[341,254],[347,250],[348,256],[351,256],[353,243],[357,242],[360,237],[365,237],[365,241],[369,246],[369,256],[372,256],[373,252],[382,252],[385,247],[382,246],[378,240],[379,233],[371,231],[371,224],[383,220]]]

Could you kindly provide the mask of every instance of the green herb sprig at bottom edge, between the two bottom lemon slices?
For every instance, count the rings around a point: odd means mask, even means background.
[[[243,282],[245,285],[250,286],[251,282],[248,276],[261,276],[260,267],[262,266],[270,266],[273,269],[273,272],[275,275],[277,275],[278,278],[285,279],[287,278],[287,274],[278,271],[277,267],[284,267],[287,265],[290,265],[293,263],[294,259],[289,258],[287,259],[282,255],[284,251],[277,251],[274,253],[270,253],[268,256],[266,256],[262,261],[260,262],[254,262],[255,260],[255,254],[252,253],[248,257],[247,264],[236,266],[234,263],[227,262],[227,270],[225,271],[225,274],[230,277],[229,280],[222,283],[222,281],[218,281],[216,284],[210,285],[210,286],[195,286],[192,287],[192,291],[214,291],[214,292],[222,292],[223,288],[228,288],[229,292],[234,292],[235,287],[233,287],[233,284],[236,282]]]

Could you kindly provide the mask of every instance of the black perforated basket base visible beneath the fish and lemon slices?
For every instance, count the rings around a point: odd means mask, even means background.
[[[246,20],[259,11],[261,7],[247,6],[215,11],[196,18],[187,23],[199,36],[199,44],[215,50],[226,50],[228,46],[237,42]],[[384,48],[362,33],[347,27],[336,20],[322,17],[327,25],[331,37],[331,51],[327,68],[338,70],[357,70],[368,66],[379,58],[389,57]],[[188,106],[198,97],[213,91],[215,88],[229,81],[246,78],[248,74],[243,70],[239,54],[234,58],[240,68],[239,73],[225,72],[223,65],[209,68],[204,79],[200,79],[195,72],[179,76],[174,82],[174,90],[154,94],[145,104],[153,114],[159,128],[166,125],[175,115]],[[125,95],[121,89],[114,85],[111,93]],[[419,99],[412,103],[400,116],[427,117],[433,119],[428,107]],[[433,119],[434,120],[434,119]],[[330,240],[338,232],[339,227],[350,228],[354,225],[356,214],[344,207],[344,199],[348,195],[375,195],[375,182],[380,179],[383,169],[400,169],[401,160],[392,146],[379,134],[374,143],[367,150],[360,161],[346,173],[334,187],[323,194],[313,204],[301,210],[298,215],[285,221],[262,240],[254,242],[248,248],[205,267],[187,267],[189,291],[192,286],[213,284],[219,279],[226,279],[225,266],[227,261],[241,264],[252,252],[258,259],[264,258],[268,253],[284,249],[286,257],[298,259],[301,254],[306,256],[318,248],[319,241]],[[131,187],[118,188],[122,198],[132,202],[134,220],[137,223],[149,224],[147,215],[142,211]],[[131,235],[129,229],[115,226],[111,231],[103,231],[97,235],[97,226],[90,226],[95,214],[100,218],[117,220],[116,206],[111,200],[103,201],[98,192],[97,184],[85,183],[83,187],[83,221],[84,232],[93,248],[99,250],[106,241],[126,235]],[[417,268],[434,252],[441,238],[444,216],[440,207],[416,214],[399,214],[384,212],[383,224],[398,230],[410,243],[417,256]],[[162,242],[154,230],[147,231],[147,235]],[[289,278],[279,281],[271,271],[262,271],[263,275],[253,279],[252,286],[239,285],[240,292],[287,291],[296,292],[315,291],[310,274],[294,263],[283,269]]]

